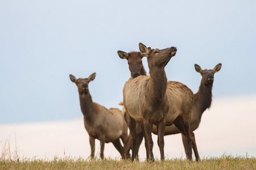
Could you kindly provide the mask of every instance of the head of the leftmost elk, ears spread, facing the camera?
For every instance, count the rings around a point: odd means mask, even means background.
[[[80,94],[82,93],[85,93],[87,94],[88,93],[88,84],[89,82],[91,82],[92,80],[94,80],[96,76],[96,73],[93,73],[91,74],[88,78],[79,78],[79,79],[76,79],[75,76],[73,76],[72,74],[69,74],[69,78],[71,79],[71,82],[75,83],[77,88],[78,88],[78,91]]]

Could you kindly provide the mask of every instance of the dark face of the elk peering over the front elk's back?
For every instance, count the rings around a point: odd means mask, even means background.
[[[141,75],[140,72],[142,70],[142,58],[144,57],[141,52],[122,52],[118,51],[118,56],[122,59],[127,59],[129,70],[131,71],[131,76],[136,78],[137,76]]]

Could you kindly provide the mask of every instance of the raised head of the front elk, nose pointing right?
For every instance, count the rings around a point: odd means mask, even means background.
[[[166,49],[151,49],[142,43],[139,43],[139,50],[147,57],[149,67],[165,67],[177,52],[177,48],[174,46]]]

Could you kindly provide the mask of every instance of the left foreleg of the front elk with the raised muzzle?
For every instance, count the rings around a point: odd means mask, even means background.
[[[154,142],[152,140],[151,125],[150,125],[150,122],[148,120],[144,120],[143,123],[144,123],[144,130],[145,130],[145,134],[146,134],[145,139],[147,138],[148,148],[149,148],[149,151],[150,151],[150,161],[154,162],[155,161],[154,160],[154,155],[153,155]]]

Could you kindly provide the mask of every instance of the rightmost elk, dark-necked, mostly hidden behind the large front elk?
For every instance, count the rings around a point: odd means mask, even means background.
[[[221,69],[221,63],[216,65],[212,70],[202,70],[201,67],[197,64],[195,64],[195,70],[201,74],[202,79],[199,86],[199,91],[194,94],[194,104],[192,108],[191,113],[191,120],[190,120],[190,127],[191,130],[194,131],[199,127],[199,124],[201,122],[201,117],[204,111],[208,108],[210,108],[210,104],[212,103],[212,86],[213,86],[213,79],[214,79],[214,73],[220,71]],[[153,127],[152,132],[154,134],[157,133],[156,127]],[[174,126],[166,126],[164,130],[164,135],[171,135],[171,134],[177,134],[180,133],[179,130]],[[182,141],[185,148],[185,153],[188,156],[188,143],[183,134],[182,135]],[[196,154],[196,153],[195,153]],[[199,159],[196,158],[197,160]]]

